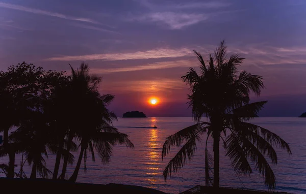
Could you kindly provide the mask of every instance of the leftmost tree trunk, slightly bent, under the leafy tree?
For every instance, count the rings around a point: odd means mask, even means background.
[[[9,171],[8,171],[8,178],[14,178],[15,172],[15,152],[12,149],[12,146],[9,144],[9,128],[3,131],[3,146],[4,149],[9,154]]]

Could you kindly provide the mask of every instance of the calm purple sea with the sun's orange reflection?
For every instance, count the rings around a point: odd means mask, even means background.
[[[261,117],[256,118],[252,123],[263,126],[281,136],[289,143],[292,155],[277,149],[278,164],[272,166],[277,182],[276,191],[292,193],[306,193],[306,119],[293,117]],[[193,124],[191,117],[151,117],[151,118],[119,118],[114,126],[120,132],[130,135],[135,149],[128,149],[124,146],[116,146],[109,165],[100,163],[98,155],[93,163],[91,158],[87,159],[88,171],[84,174],[84,163],[81,166],[78,182],[84,183],[123,183],[139,185],[168,193],[179,193],[196,185],[205,184],[204,150],[205,143],[198,143],[198,149],[193,159],[185,166],[182,172],[172,174],[172,177],[163,181],[163,170],[176,153],[174,148],[171,155],[161,159],[161,150],[165,138],[186,126]],[[150,126],[158,128],[145,128]],[[143,128],[141,128],[143,127]],[[204,138],[203,138],[204,139]],[[212,140],[209,140],[212,153]],[[237,177],[230,166],[230,159],[220,153],[220,185],[229,187],[244,186],[252,189],[267,190],[264,186],[264,179],[257,171],[248,176]],[[75,153],[76,159],[78,153]],[[21,156],[16,156],[18,167]],[[17,161],[19,160],[19,161]],[[7,163],[7,158],[0,158],[0,164]],[[47,166],[53,170],[55,155],[49,155]],[[68,167],[68,174],[71,175],[74,166]],[[25,169],[30,176],[30,170]],[[3,176],[0,174],[0,176]],[[240,179],[241,181],[240,181]]]

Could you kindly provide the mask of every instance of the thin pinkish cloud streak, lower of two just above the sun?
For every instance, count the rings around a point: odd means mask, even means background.
[[[176,60],[176,61],[163,61],[156,63],[149,63],[142,66],[133,66],[126,68],[110,68],[110,69],[91,69],[95,74],[110,74],[116,72],[132,72],[142,70],[158,70],[158,69],[169,69],[169,68],[180,68],[180,67],[191,67],[191,61],[189,60]]]

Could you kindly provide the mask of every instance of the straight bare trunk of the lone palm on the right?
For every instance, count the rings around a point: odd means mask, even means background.
[[[220,175],[219,175],[219,161],[220,161],[220,134],[218,130],[214,130],[214,187],[220,186]]]

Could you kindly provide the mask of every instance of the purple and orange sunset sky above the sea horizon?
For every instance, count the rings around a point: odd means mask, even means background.
[[[0,0],[0,70],[25,61],[46,70],[89,64],[122,116],[191,116],[181,80],[225,39],[240,70],[261,75],[260,116],[306,111],[306,1]],[[156,106],[147,101],[158,98]]]

